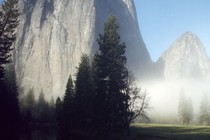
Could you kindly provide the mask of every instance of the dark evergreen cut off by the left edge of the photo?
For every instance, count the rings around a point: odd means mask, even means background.
[[[0,128],[2,127],[3,129],[1,130],[4,130],[1,132],[2,134],[12,133],[10,131],[12,131],[12,127],[17,123],[18,120],[16,118],[18,118],[19,114],[17,90],[15,89],[16,91],[13,92],[12,90],[14,89],[12,88],[8,91],[8,86],[5,82],[5,68],[11,62],[13,50],[11,46],[15,40],[16,27],[19,24],[17,3],[17,0],[5,0],[0,6]],[[13,80],[15,79],[13,78]],[[10,134],[9,136],[12,135]]]

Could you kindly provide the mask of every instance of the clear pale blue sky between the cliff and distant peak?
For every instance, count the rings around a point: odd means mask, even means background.
[[[210,56],[210,0],[134,0],[141,35],[153,61],[191,31]]]

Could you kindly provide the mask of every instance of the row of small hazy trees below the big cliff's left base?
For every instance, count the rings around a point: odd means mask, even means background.
[[[24,124],[32,123],[54,123],[55,122],[55,102],[51,97],[47,102],[44,92],[41,90],[38,100],[35,99],[34,90],[19,99],[21,121]]]

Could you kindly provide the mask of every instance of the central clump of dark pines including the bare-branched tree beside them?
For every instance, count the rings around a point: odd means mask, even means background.
[[[128,72],[126,45],[120,41],[114,16],[106,21],[97,42],[99,52],[92,59],[82,55],[76,80],[70,76],[63,101],[56,100],[61,139],[123,138],[130,135],[130,124],[137,116],[147,117],[149,98]]]

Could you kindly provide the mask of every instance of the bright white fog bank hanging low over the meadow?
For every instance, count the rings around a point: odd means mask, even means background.
[[[210,97],[210,80],[153,80],[138,84],[151,97],[149,117],[156,123],[179,123],[178,105],[183,94],[192,100],[193,123],[197,123],[201,99],[204,95]]]

